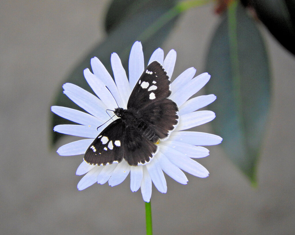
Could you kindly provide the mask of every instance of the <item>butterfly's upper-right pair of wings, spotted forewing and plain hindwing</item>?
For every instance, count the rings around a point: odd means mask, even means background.
[[[148,65],[136,83],[127,109],[134,109],[160,139],[166,139],[178,124],[178,107],[168,99],[170,80],[162,65],[154,61]]]

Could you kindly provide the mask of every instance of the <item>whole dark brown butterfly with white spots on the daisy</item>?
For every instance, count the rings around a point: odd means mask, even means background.
[[[144,70],[127,103],[115,108],[118,117],[86,150],[90,165],[109,165],[123,159],[130,166],[145,165],[158,152],[178,124],[178,107],[170,100],[170,80],[162,65],[154,61]]]

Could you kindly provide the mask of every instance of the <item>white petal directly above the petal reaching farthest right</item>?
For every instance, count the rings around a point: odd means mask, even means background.
[[[208,110],[195,111],[189,114],[184,114],[179,117],[179,123],[175,131],[182,131],[195,126],[199,126],[212,121],[214,118],[214,112]]]

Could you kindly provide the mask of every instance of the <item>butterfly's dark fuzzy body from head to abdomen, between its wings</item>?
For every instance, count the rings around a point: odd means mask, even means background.
[[[116,108],[114,114],[121,118],[126,126],[132,126],[139,131],[142,136],[146,137],[153,143],[156,143],[159,140],[159,137],[155,134],[153,129],[150,128],[145,121],[141,120],[140,112],[132,109]]]

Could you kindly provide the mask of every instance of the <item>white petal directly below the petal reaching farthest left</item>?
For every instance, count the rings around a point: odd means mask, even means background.
[[[67,135],[74,135],[86,138],[95,138],[98,136],[99,132],[97,132],[96,127],[92,126],[84,126],[84,125],[71,125],[71,124],[63,124],[57,125],[53,128],[55,132],[59,132]]]

